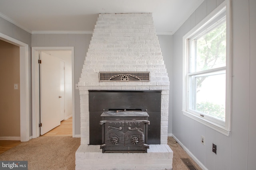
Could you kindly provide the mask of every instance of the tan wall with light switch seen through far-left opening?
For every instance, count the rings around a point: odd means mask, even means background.
[[[20,47],[0,40],[0,140],[20,141]]]

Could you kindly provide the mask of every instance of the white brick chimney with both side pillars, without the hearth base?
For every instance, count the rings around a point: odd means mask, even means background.
[[[150,81],[100,82],[99,72],[150,72]],[[88,90],[162,90],[161,143],[167,144],[169,84],[152,13],[99,14],[78,83],[81,143],[89,138]]]

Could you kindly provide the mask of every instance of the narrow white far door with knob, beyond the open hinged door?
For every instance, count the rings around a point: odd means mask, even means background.
[[[65,116],[65,62],[60,60],[60,121],[66,118]]]

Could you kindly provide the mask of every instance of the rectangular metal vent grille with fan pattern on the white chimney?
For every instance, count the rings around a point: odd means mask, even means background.
[[[100,82],[149,82],[150,72],[99,72]]]

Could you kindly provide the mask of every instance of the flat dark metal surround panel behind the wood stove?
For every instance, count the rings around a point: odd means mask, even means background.
[[[102,145],[100,116],[104,111],[139,110],[147,112],[148,145],[160,144],[161,90],[89,90],[90,145]]]

